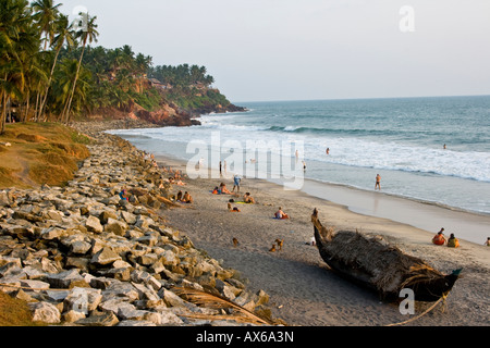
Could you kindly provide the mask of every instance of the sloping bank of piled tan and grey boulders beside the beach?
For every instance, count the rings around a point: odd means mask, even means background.
[[[171,202],[144,153],[95,138],[64,187],[0,190],[0,290],[49,324],[280,323],[265,291],[166,226],[159,212]],[[135,194],[121,200],[122,187]]]

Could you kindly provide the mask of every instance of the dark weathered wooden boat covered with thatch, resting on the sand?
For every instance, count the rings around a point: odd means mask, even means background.
[[[451,291],[460,276],[461,270],[442,274],[380,236],[324,227],[316,209],[311,222],[323,261],[340,275],[378,291],[384,300],[399,298],[402,289],[409,288],[415,300],[437,301]]]

